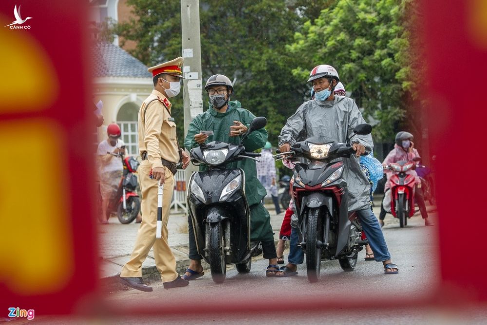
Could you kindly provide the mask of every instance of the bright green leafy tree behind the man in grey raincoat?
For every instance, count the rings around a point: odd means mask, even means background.
[[[408,0],[338,0],[304,23],[287,50],[301,57],[293,69],[301,79],[309,67],[330,64],[365,117],[378,121],[375,137],[389,140],[403,119],[411,82],[411,21]]]

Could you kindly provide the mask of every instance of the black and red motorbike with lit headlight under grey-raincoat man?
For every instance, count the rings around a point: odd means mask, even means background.
[[[360,124],[355,135],[370,134],[369,124]],[[352,136],[353,137],[353,136]],[[306,255],[308,280],[319,280],[321,260],[338,259],[344,271],[353,271],[358,252],[368,243],[355,213],[348,213],[347,182],[343,159],[355,151],[348,143],[327,137],[296,142],[287,155],[296,164],[292,196],[298,215],[299,246]]]

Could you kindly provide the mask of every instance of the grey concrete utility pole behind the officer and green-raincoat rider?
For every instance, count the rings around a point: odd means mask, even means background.
[[[200,43],[200,1],[181,0],[181,36],[183,45],[183,97],[184,97],[184,132],[187,134],[189,123],[203,113],[203,86],[201,79],[201,43]],[[197,167],[189,164],[186,169],[186,184]]]

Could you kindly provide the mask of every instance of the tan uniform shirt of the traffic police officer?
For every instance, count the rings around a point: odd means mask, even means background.
[[[152,169],[164,167],[161,158],[173,163],[179,162],[176,123],[171,118],[170,110],[169,100],[155,89],[140,106],[139,151],[141,155],[147,151],[147,158]]]

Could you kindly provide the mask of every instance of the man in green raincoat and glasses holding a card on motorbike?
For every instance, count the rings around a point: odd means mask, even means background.
[[[211,141],[239,144],[241,137],[247,132],[250,122],[255,119],[255,116],[242,108],[240,102],[228,101],[233,92],[233,85],[226,76],[222,74],[211,76],[206,82],[205,90],[210,98],[210,107],[206,112],[195,117],[189,124],[184,143],[186,149],[191,150],[200,144]],[[213,131],[213,135],[207,136],[200,131]],[[265,129],[262,128],[252,132],[244,140],[245,150],[252,152],[262,148],[266,141],[267,131]],[[244,159],[228,165],[230,168],[242,168],[245,172],[245,193],[250,207],[250,240],[262,242],[263,257],[269,259],[266,275],[274,276],[276,271],[279,270],[276,265],[276,247],[270,224],[270,215],[262,205],[262,198],[266,195],[266,191],[257,179],[255,161]],[[206,169],[205,165],[200,165],[200,171],[205,171]],[[191,263],[183,277],[187,280],[193,280],[204,273],[201,265],[201,256],[196,249],[193,224],[190,217],[188,217],[188,223],[189,258]]]

